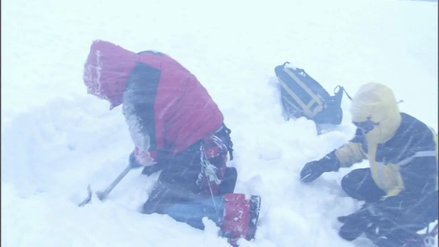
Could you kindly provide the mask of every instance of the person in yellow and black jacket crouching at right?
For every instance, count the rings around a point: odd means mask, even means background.
[[[364,233],[377,246],[407,246],[418,237],[416,231],[438,220],[437,134],[401,113],[392,90],[383,84],[361,86],[350,111],[355,137],[307,163],[300,179],[309,183],[324,172],[367,159],[370,167],[353,169],[342,178],[348,196],[365,203],[359,211],[338,217],[343,223],[339,235],[352,241]]]

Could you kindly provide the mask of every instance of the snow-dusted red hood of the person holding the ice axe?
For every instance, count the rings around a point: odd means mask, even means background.
[[[139,56],[118,45],[95,40],[84,64],[84,84],[87,93],[106,99],[110,110],[122,104],[122,94],[128,76]]]

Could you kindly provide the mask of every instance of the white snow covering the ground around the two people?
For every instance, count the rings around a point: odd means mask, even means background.
[[[274,67],[292,62],[331,94],[381,82],[437,131],[437,10],[398,0],[2,1],[2,246],[229,246],[209,220],[200,231],[139,213],[158,177],[141,169],[106,201],[77,207],[133,148],[121,107],[86,94],[95,39],[169,54],[215,99],[235,143],[236,191],[262,198],[256,238],[242,247],[371,246],[337,236],[336,217],[360,205],[340,189],[350,169],[298,180],[305,163],[351,139],[347,97],[342,124],[318,135],[313,121],[284,121]]]

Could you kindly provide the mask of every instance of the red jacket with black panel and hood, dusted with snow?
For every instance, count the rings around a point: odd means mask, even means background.
[[[136,145],[160,160],[215,132],[224,117],[204,86],[173,58],[154,51],[135,54],[102,40],[91,45],[84,67],[88,93],[123,104]]]

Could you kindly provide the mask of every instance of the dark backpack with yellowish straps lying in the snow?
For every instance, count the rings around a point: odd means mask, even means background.
[[[277,66],[274,71],[280,84],[281,102],[287,120],[291,117],[306,117],[316,124],[342,122],[341,104],[345,91],[342,86],[335,87],[335,95],[331,96],[305,70],[292,67],[289,62]]]

